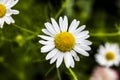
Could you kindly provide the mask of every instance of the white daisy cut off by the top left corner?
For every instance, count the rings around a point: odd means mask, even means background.
[[[11,8],[17,2],[18,0],[0,0],[0,28],[3,28],[4,22],[7,24],[15,23],[11,15],[19,14],[19,11]]]

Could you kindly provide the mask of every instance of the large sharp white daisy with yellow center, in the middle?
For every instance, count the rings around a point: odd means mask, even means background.
[[[51,18],[51,23],[45,23],[45,29],[42,32],[46,35],[39,35],[43,40],[39,43],[44,46],[41,48],[42,53],[48,52],[46,60],[50,60],[50,64],[56,61],[56,67],[58,68],[64,60],[67,68],[74,67],[75,61],[79,61],[77,53],[89,56],[88,52],[91,50],[89,45],[92,42],[86,40],[89,35],[89,31],[83,31],[85,25],[79,26],[79,21],[74,19],[68,27],[68,19],[59,18],[59,25]]]

